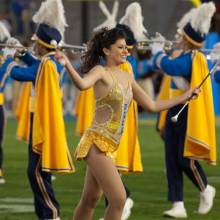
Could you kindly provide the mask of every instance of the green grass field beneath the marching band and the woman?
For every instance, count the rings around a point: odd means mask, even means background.
[[[132,192],[134,207],[130,220],[163,219],[161,213],[170,208],[166,199],[166,178],[164,168],[164,146],[155,131],[153,123],[140,123],[139,139],[142,148],[144,172],[141,174],[124,175],[123,180]],[[74,135],[74,122],[67,125],[68,141],[71,152],[78,142]],[[7,183],[0,185],[0,219],[1,220],[35,220],[33,212],[32,193],[26,176],[27,145],[15,139],[16,122],[9,120],[4,139],[4,169]],[[217,127],[217,134],[220,127]],[[218,145],[220,139],[218,139]],[[73,209],[79,201],[83,187],[85,163],[77,162],[77,172],[69,175],[57,175],[54,189],[61,204],[62,220],[70,220]],[[199,203],[199,193],[185,179],[185,206],[188,219],[220,219],[220,166],[210,167],[203,164],[208,175],[209,183],[217,189],[213,210],[205,216],[196,214]],[[103,216],[104,201],[101,200],[96,208],[94,220]]]

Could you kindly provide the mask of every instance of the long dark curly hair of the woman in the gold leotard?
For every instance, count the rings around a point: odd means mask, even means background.
[[[88,50],[82,56],[81,72],[87,73],[90,69],[100,63],[101,58],[105,58],[103,48],[109,49],[118,39],[126,38],[123,30],[120,28],[112,28],[108,30],[103,28],[96,32],[89,41]]]

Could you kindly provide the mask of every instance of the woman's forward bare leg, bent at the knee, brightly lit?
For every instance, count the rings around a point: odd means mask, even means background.
[[[104,219],[120,220],[126,193],[114,162],[95,146],[91,148],[86,162],[109,201]]]

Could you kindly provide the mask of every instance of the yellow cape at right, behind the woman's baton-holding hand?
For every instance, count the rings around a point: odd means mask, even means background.
[[[208,74],[205,56],[194,52],[192,78],[190,86],[195,88]],[[216,164],[216,136],[213,98],[210,77],[201,87],[201,93],[188,106],[187,131],[184,156],[203,159],[209,164]]]

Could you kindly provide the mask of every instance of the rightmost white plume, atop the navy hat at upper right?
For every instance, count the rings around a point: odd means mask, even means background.
[[[202,35],[208,33],[211,19],[215,13],[215,4],[213,2],[203,3],[194,13],[191,25],[195,31],[199,31]]]

